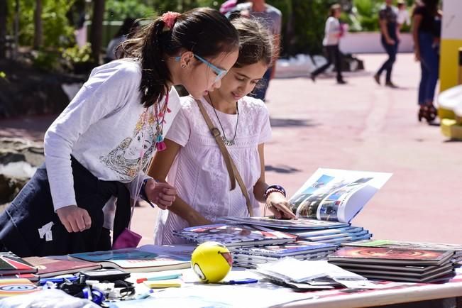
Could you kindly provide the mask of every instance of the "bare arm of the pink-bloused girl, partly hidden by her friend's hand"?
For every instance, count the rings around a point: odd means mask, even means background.
[[[170,139],[165,139],[165,145],[167,145],[165,150],[155,153],[155,156],[151,161],[148,169],[148,175],[153,177],[155,180],[158,180],[159,182],[166,182],[165,179],[168,175],[168,172],[170,171],[177,153],[181,148],[181,145],[171,141]],[[161,204],[158,204],[158,207],[160,207],[160,209],[168,209],[169,211],[177,214],[182,219],[185,219],[189,226],[211,224],[211,221],[205,219],[204,216],[189,206],[189,204],[183,201],[180,197],[176,197],[175,201],[172,202],[170,207],[165,207]]]

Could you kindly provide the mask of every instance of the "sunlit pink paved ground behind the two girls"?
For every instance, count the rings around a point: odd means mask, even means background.
[[[412,55],[398,56],[393,76],[400,89],[372,79],[385,55],[360,57],[366,71],[346,75],[346,85],[330,78],[272,82],[268,182],[291,195],[318,167],[392,172],[353,224],[374,238],[462,244],[462,144],[417,121],[419,66]],[[0,121],[0,136],[41,138],[52,119]],[[148,206],[135,211],[133,229],[142,243],[151,241],[155,214]]]

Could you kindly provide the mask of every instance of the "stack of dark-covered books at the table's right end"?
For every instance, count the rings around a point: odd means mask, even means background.
[[[329,263],[370,279],[439,282],[453,275],[453,251],[343,247],[328,256]]]

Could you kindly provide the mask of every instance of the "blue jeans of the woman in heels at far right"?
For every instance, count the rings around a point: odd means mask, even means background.
[[[419,84],[419,105],[433,102],[436,82],[439,77],[438,48],[433,46],[433,35],[429,32],[419,33],[420,68],[422,77]]]

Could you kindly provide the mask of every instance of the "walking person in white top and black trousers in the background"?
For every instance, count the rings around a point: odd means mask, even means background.
[[[330,16],[326,21],[326,28],[324,31],[324,40],[322,45],[326,49],[327,62],[325,65],[318,67],[317,70],[311,73],[311,79],[313,82],[316,81],[317,75],[321,74],[331,66],[332,63],[335,63],[335,68],[337,72],[337,83],[345,84],[343,76],[341,75],[341,53],[339,49],[340,38],[343,35],[343,29],[339,22],[339,17],[341,14],[341,6],[339,4],[333,4],[330,9]]]

